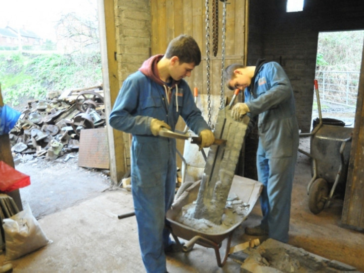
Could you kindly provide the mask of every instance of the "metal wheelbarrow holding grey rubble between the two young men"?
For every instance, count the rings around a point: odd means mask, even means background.
[[[234,231],[252,211],[258,197],[260,196],[263,186],[256,180],[235,175],[230,189],[230,194],[235,194],[241,201],[248,204],[246,213],[239,215],[237,218],[238,220],[235,221],[229,229],[222,233],[205,233],[176,220],[182,208],[185,205],[193,203],[197,199],[200,181],[201,180],[196,181],[193,185],[186,189],[186,191],[181,194],[177,200],[174,201],[172,207],[166,213],[167,224],[169,225],[171,234],[177,244],[180,244],[178,237],[188,241],[183,246],[184,252],[190,251],[195,244],[199,244],[207,248],[213,248],[215,250],[217,265],[222,267],[229,255],[230,244]],[[221,262],[219,248],[221,247],[222,241],[226,238],[228,239],[228,242],[226,244],[224,258]]]

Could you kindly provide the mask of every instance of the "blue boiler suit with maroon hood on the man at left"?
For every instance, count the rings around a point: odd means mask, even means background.
[[[185,80],[166,83],[159,79],[156,64],[162,57],[152,56],[126,78],[109,118],[113,128],[132,134],[131,191],[139,243],[147,272],[158,273],[167,271],[164,248],[171,243],[165,213],[175,193],[176,141],[154,136],[151,120],[163,120],[174,131],[181,116],[197,134],[210,129]]]

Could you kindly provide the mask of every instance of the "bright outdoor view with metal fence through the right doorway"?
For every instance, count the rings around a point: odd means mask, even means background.
[[[353,127],[364,30],[320,32],[315,79],[323,118]],[[316,92],[312,120],[319,117]],[[335,121],[335,119],[337,121]]]

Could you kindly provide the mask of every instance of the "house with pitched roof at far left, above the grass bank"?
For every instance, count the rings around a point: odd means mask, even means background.
[[[20,34],[20,35],[19,35]],[[10,26],[0,28],[0,49],[37,49],[42,44],[42,39],[33,31],[25,27],[16,29]]]

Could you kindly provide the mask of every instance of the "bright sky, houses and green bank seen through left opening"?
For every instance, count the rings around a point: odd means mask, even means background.
[[[6,104],[22,110],[49,93],[102,84],[96,0],[0,1],[0,10],[0,86]]]

